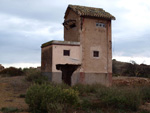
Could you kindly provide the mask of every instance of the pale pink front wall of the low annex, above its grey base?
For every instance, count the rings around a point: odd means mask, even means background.
[[[70,50],[70,56],[64,56],[63,50]],[[81,64],[80,46],[53,45],[52,71],[60,72],[56,69],[56,64]]]

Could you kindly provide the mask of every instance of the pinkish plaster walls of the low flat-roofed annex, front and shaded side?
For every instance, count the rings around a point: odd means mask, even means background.
[[[70,56],[63,51],[70,50]],[[80,46],[49,45],[42,48],[41,71],[52,82],[62,83],[62,72],[56,69],[57,64],[81,64]]]

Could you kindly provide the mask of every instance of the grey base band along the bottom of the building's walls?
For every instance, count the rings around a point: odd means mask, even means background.
[[[55,83],[62,83],[62,72],[43,72],[48,80]],[[74,72],[71,77],[71,85],[75,84],[102,84],[104,86],[111,85],[111,74],[107,73],[84,73]]]

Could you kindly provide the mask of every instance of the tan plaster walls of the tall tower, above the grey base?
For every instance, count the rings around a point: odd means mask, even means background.
[[[112,73],[111,20],[79,17],[72,10],[66,16],[66,20],[69,19],[76,19],[77,27],[69,30],[64,28],[64,39],[81,42],[82,66],[80,71]],[[97,27],[96,23],[104,23],[106,27]],[[93,57],[94,50],[99,51],[99,58]]]

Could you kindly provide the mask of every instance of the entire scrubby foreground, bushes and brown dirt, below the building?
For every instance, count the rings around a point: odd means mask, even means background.
[[[12,76],[8,72],[0,74],[1,112],[150,113],[148,78],[147,84],[136,81],[136,78],[133,79],[138,84],[129,84],[131,81],[125,82],[127,78],[121,77],[122,81],[118,82],[118,77],[114,77],[111,87],[100,84],[71,87],[48,82],[34,68],[17,70],[21,71],[21,75],[14,76],[15,71]]]

